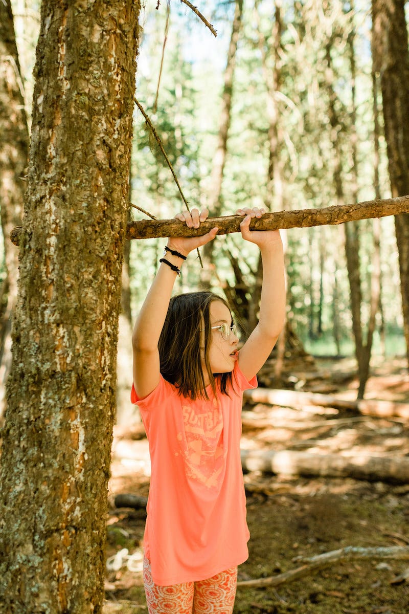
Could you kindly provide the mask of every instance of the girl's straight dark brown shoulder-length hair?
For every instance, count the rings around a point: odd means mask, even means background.
[[[213,292],[188,292],[172,297],[159,338],[161,374],[178,387],[183,397],[208,398],[201,362],[201,329],[204,328],[204,362],[213,394],[216,380],[220,391],[228,394],[231,373],[212,373],[208,360],[210,348],[210,303],[221,301],[230,310],[224,298]]]

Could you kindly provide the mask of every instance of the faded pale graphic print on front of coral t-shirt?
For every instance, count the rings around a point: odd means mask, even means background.
[[[201,411],[202,410],[202,411]],[[223,413],[220,401],[199,406],[182,406],[184,433],[177,434],[180,451],[185,461],[186,475],[206,486],[216,488],[223,480]]]

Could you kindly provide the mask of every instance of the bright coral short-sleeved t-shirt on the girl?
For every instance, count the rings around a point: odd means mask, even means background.
[[[240,460],[243,391],[257,386],[236,362],[229,395],[178,395],[160,376],[139,399],[149,440],[151,481],[143,538],[153,581],[169,586],[205,580],[248,558],[250,537]]]

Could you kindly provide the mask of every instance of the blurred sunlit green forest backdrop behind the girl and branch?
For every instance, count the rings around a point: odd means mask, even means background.
[[[29,118],[39,3],[13,0],[12,6]],[[141,12],[136,97],[191,207],[208,206],[215,216],[242,206],[280,211],[390,196],[369,1],[205,2],[199,8],[217,37],[183,4],[162,2],[156,8],[147,4]],[[137,108],[131,185],[131,202],[158,218],[183,208]],[[145,217],[131,211],[133,219]],[[372,352],[386,359],[405,354],[391,217],[289,230],[285,239],[288,322],[307,352],[354,354],[347,247],[359,255],[350,278],[359,266],[360,343],[367,343],[373,287],[380,284]],[[123,311],[130,327],[164,240],[128,243]],[[205,270],[191,258],[177,290],[200,283],[223,289],[237,303],[245,329],[257,295],[256,250],[229,235],[204,256]],[[1,262],[5,279],[4,257]],[[126,322],[123,329],[126,343]],[[120,359],[121,369],[128,357]]]

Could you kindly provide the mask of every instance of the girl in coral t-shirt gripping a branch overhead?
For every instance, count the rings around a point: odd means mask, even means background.
[[[250,231],[263,209],[239,209],[243,239],[263,266],[259,322],[240,351],[231,311],[211,292],[171,297],[189,252],[218,228],[170,238],[134,332],[131,399],[151,456],[143,583],[149,614],[231,614],[237,565],[248,557],[240,462],[243,391],[277,341],[285,317],[283,246],[278,231]],[[176,216],[191,228],[207,209]]]

